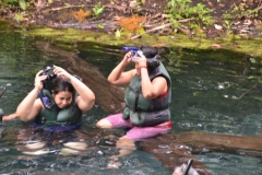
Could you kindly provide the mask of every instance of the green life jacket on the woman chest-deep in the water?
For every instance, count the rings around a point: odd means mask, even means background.
[[[63,109],[60,109],[56,105],[48,90],[43,89],[40,93],[41,94],[39,96],[45,107],[35,118],[36,124],[53,125],[53,124],[75,124],[81,121],[82,112],[76,104],[78,97],[76,93],[73,95],[72,103],[67,108]],[[49,107],[46,107],[47,104],[49,105]]]

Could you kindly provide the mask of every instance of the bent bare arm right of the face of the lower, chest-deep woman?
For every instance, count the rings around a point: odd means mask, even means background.
[[[79,79],[68,73],[64,69],[57,66],[53,67],[53,72],[58,77],[70,81],[71,84],[74,86],[75,91],[79,93],[80,96],[78,96],[76,103],[82,113],[90,110],[95,104],[95,94],[91,91],[91,89],[88,89]]]

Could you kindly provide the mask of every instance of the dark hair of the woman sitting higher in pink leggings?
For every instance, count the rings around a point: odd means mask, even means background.
[[[158,50],[155,47],[152,46],[142,46],[140,47],[140,49],[143,51],[143,55],[146,57],[147,60],[153,59],[154,57],[156,57],[156,61],[152,61],[152,62],[146,62],[147,66],[147,70],[148,73],[151,73],[154,69],[156,69],[160,63],[158,61]]]

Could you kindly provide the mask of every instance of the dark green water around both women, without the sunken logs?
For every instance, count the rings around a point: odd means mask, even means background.
[[[12,84],[0,100],[0,107],[5,114],[10,114],[32,90],[35,72],[46,65],[57,63],[58,60],[62,60],[62,57],[39,49],[34,44],[34,39],[21,37],[17,33],[4,33],[0,35],[0,39],[2,40],[0,43],[0,89],[2,90],[7,83]],[[74,47],[80,51],[80,58],[96,66],[105,77],[122,56],[120,49],[112,46],[80,43]],[[174,121],[171,132],[195,130],[226,135],[258,136],[261,133],[262,94],[259,60],[252,56],[225,50],[166,48],[163,51],[163,61],[167,65],[174,86],[170,106]],[[114,138],[121,136],[122,130],[106,131],[100,135],[96,132],[92,136],[92,131],[96,129],[95,122],[105,115],[102,106],[96,104],[84,115],[81,130],[36,142],[35,147],[39,147],[36,151],[43,149],[47,151],[44,155],[23,153],[32,152],[25,144],[28,143],[27,141],[37,141],[43,138],[39,132],[33,135],[32,130],[24,130],[24,125],[19,120],[7,122],[3,138],[0,140],[0,173],[170,174],[152,154],[140,150],[128,158],[122,158],[121,168],[108,171],[108,158],[118,151],[114,147]],[[72,142],[84,142],[87,148],[78,152],[67,150],[70,149],[67,143]],[[191,148],[188,149],[191,151]],[[160,144],[155,151],[170,152],[170,148]],[[61,152],[67,156],[59,154]],[[44,152],[38,152],[38,154]],[[217,159],[222,156],[229,161]],[[198,159],[214,175],[242,174],[242,172],[248,174],[247,170],[259,174],[260,158],[260,153],[253,156],[241,150],[235,153],[221,153],[210,152],[204,148],[202,154],[198,154]]]

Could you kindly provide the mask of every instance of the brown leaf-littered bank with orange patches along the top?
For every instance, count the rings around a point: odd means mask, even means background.
[[[38,0],[35,1],[34,8],[23,14],[23,21],[26,24],[52,28],[90,30],[106,34],[115,34],[119,30],[129,31],[133,36],[142,28],[158,35],[172,35],[174,32],[192,35],[192,30],[187,25],[180,25],[177,30],[174,30],[171,25],[166,25],[169,23],[166,7],[170,1],[55,0],[48,3],[47,0]],[[248,38],[261,36],[262,16],[259,15],[262,9],[261,0],[192,0],[191,5],[198,3],[213,10],[211,12],[213,24],[201,28],[207,37],[219,37],[228,33],[228,30]],[[102,8],[102,13],[98,14]],[[14,18],[14,12],[15,10],[0,10],[0,18]],[[226,22],[223,16],[229,13],[234,19]]]

